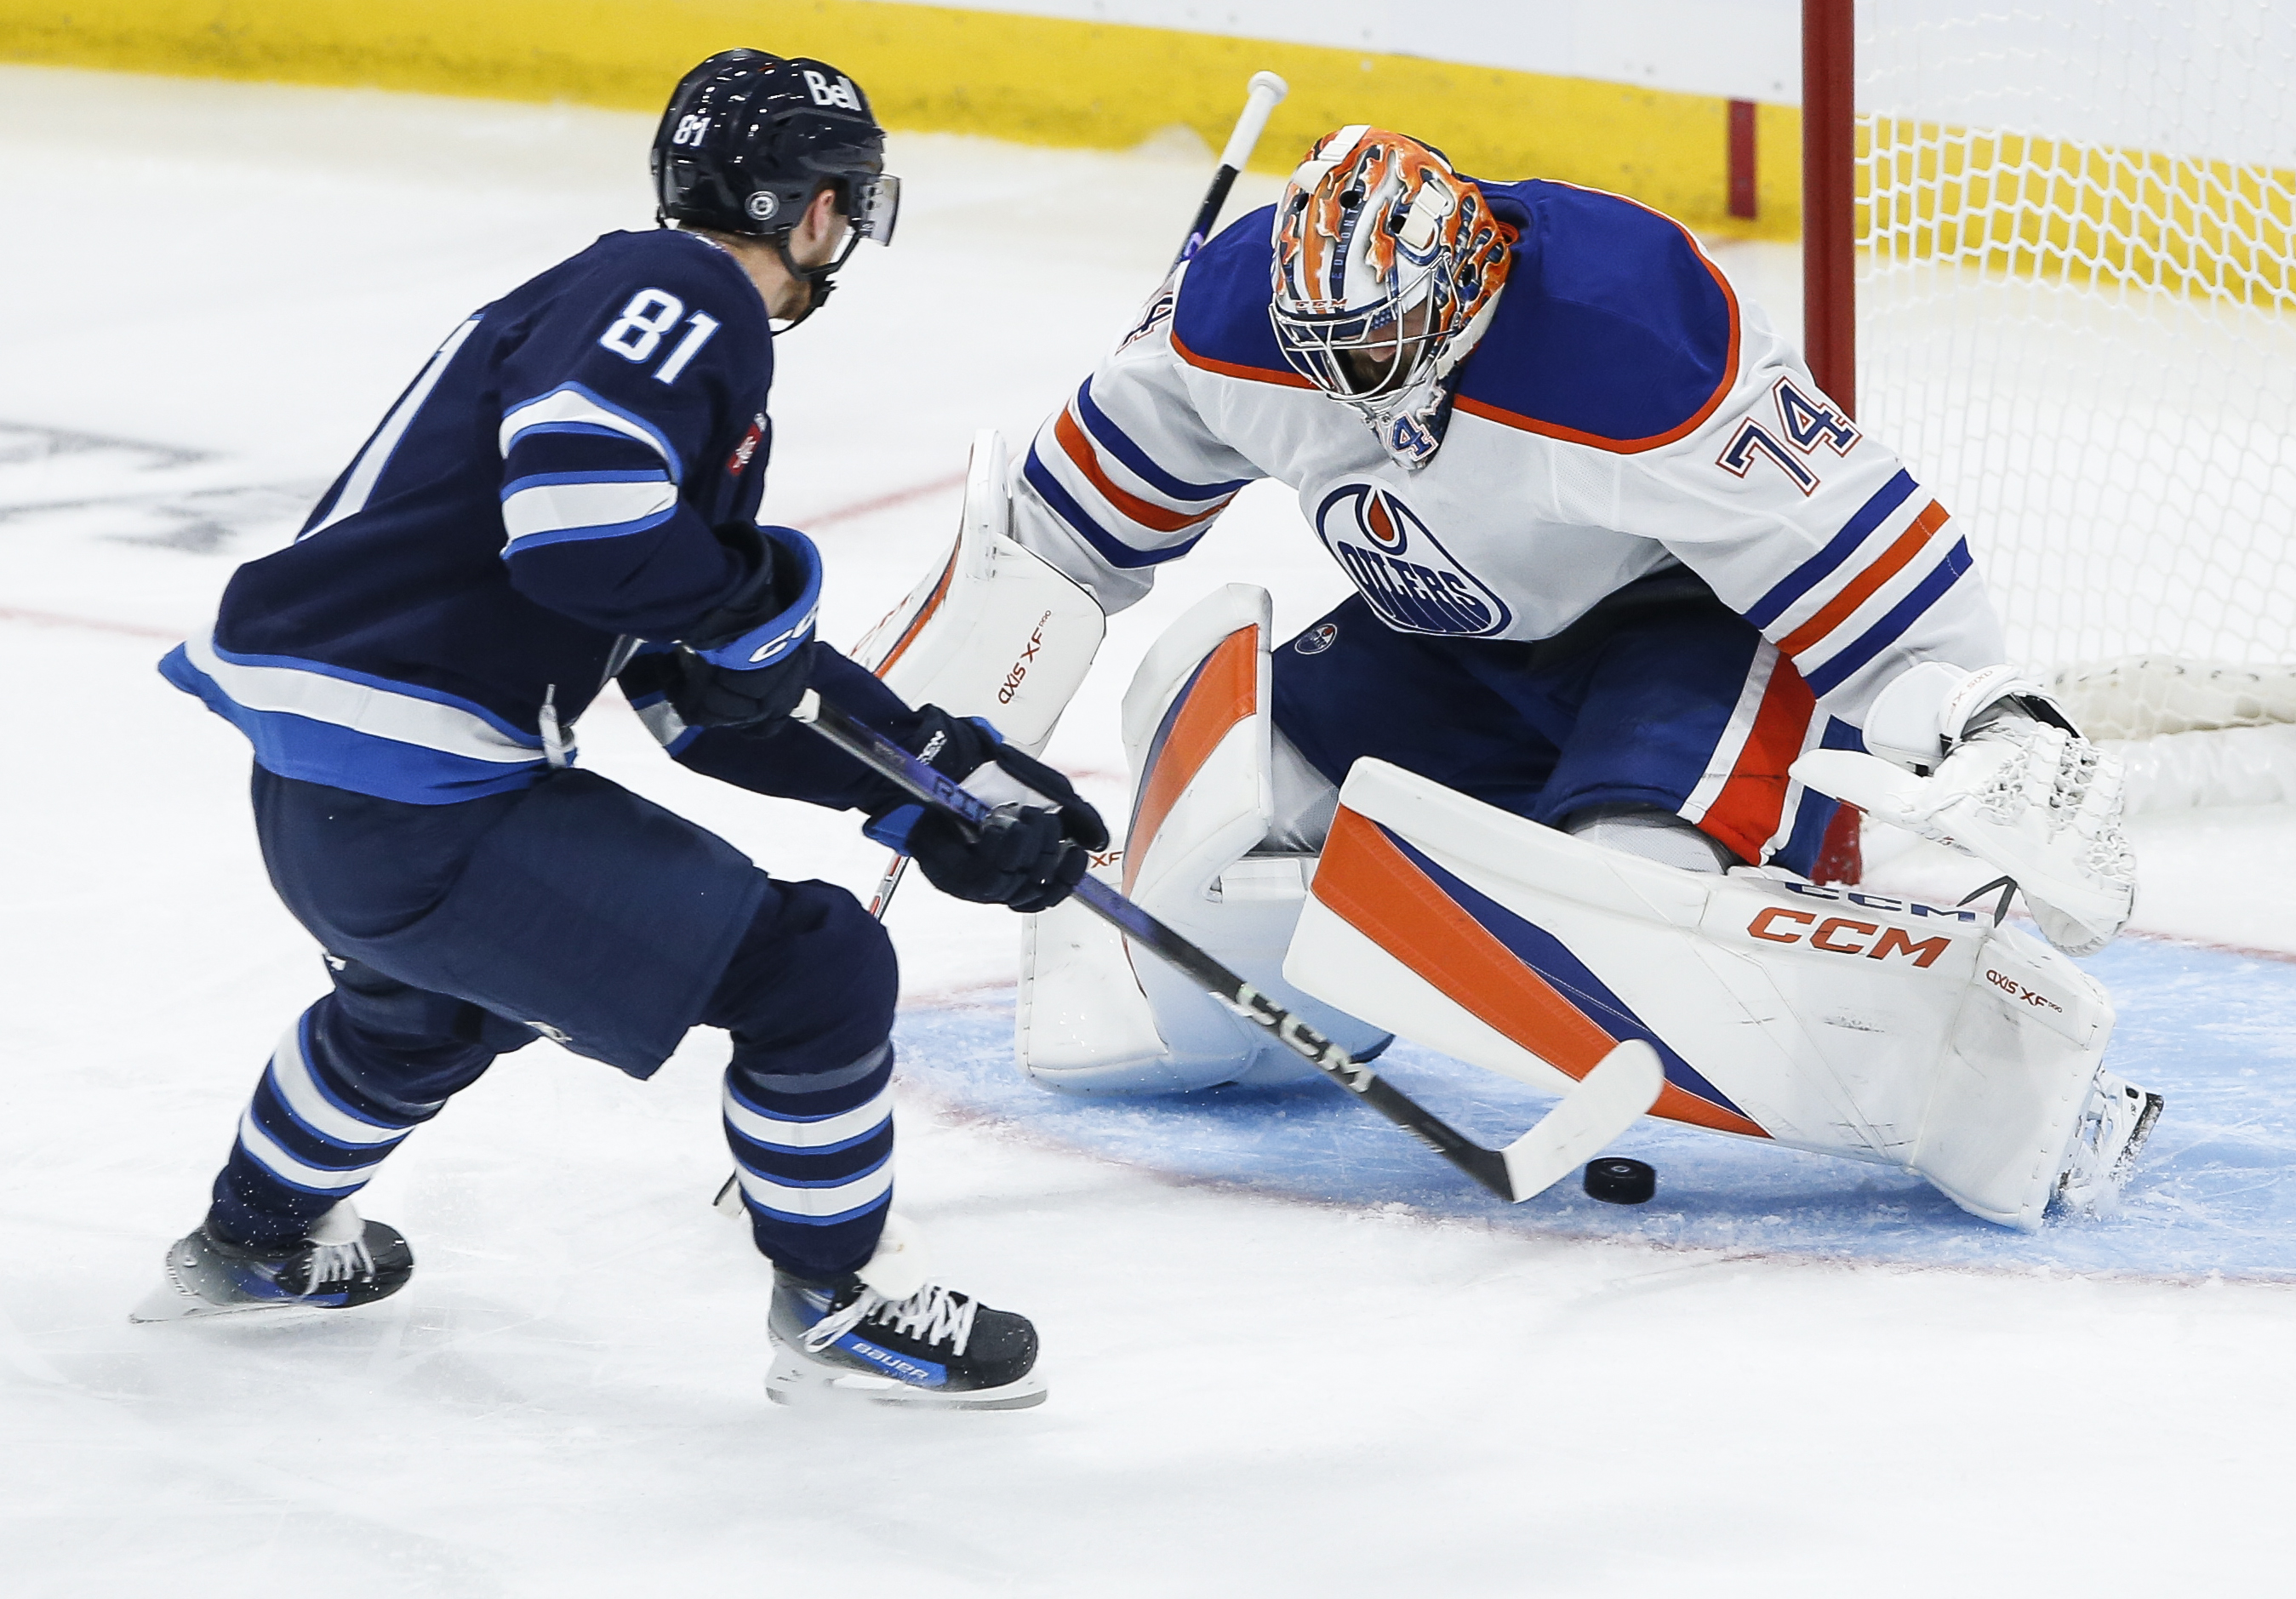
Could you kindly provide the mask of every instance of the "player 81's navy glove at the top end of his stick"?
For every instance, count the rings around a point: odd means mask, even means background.
[[[728,522],[716,535],[748,558],[751,574],[680,641],[670,710],[691,728],[778,721],[813,680],[822,558],[797,528]]]

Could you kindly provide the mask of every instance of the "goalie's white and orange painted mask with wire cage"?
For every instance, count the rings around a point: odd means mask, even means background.
[[[1442,152],[1345,126],[1309,152],[1277,204],[1277,345],[1352,407],[1405,466],[1442,446],[1446,379],[1481,338],[1515,230]]]

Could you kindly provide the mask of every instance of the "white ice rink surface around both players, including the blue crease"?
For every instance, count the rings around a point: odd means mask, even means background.
[[[1120,1110],[1137,1142],[1095,1144],[999,1075],[1010,919],[912,885],[902,1208],[955,1282],[1045,1328],[1042,1411],[765,1406],[765,1275],[707,1208],[716,1034],[645,1087],[533,1045],[457,1098],[363,1202],[416,1243],[402,1296],[131,1328],[324,981],[255,859],[243,742],[152,664],[471,306],[643,225],[647,131],[0,69],[0,1590],[2280,1581],[2296,1298],[2234,1277],[2271,1275],[2285,1238],[2289,976],[2158,944],[2101,970],[2117,1048],[2172,1096],[2163,1165],[2122,1222],[2018,1243],[1869,1167],[1665,1130],[1632,1144],[1660,1165],[1653,1208],[1502,1213],[1320,1084]],[[769,508],[824,528],[831,639],[944,544],[953,489],[930,485],[969,432],[1024,434],[1125,326],[1203,179],[955,138],[898,140],[895,170],[900,246],[863,253],[776,388]],[[1791,317],[1786,255],[1727,260]],[[1052,751],[1095,795],[1116,795],[1130,664],[1224,581],[1272,584],[1279,625],[1341,595],[1290,499],[1247,492],[1116,620]],[[850,818],[705,783],[620,703],[581,737],[778,871],[875,882]],[[2147,926],[2296,951],[2289,818],[2172,820],[2138,834]]]

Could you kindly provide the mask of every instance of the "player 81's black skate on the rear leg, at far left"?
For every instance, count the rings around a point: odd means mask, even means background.
[[[225,1243],[202,1222],[168,1247],[168,1280],[129,1312],[129,1321],[344,1310],[397,1293],[413,1270],[416,1257],[400,1229],[363,1220],[349,1199],[278,1254]]]

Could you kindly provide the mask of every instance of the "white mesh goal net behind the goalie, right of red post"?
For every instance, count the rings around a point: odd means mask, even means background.
[[[1860,0],[1857,400],[2138,809],[2296,800],[2296,7]]]

